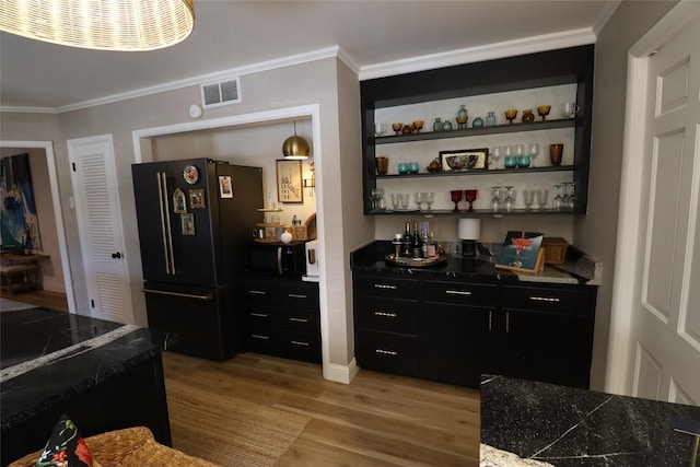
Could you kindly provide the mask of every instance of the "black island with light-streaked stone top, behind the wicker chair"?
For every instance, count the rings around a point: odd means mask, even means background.
[[[42,448],[61,413],[84,436],[144,424],[171,443],[162,336],[45,308],[0,319],[2,465]]]

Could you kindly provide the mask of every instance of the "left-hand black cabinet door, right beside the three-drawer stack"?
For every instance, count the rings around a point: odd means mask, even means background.
[[[421,376],[478,387],[491,314],[491,310],[478,306],[425,303],[420,330]]]

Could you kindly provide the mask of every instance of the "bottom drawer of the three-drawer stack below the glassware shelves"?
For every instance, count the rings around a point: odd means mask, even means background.
[[[409,376],[418,374],[419,342],[416,336],[360,329],[355,336],[355,355],[363,369]]]

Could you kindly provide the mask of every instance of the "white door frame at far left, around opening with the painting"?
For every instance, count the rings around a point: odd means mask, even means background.
[[[63,226],[63,211],[61,197],[58,189],[58,174],[56,172],[56,156],[54,155],[54,143],[51,141],[8,141],[0,140],[0,148],[26,148],[43,149],[46,154],[46,166],[48,168],[48,179],[51,190],[51,201],[54,203],[54,219],[56,221],[56,236],[58,237],[58,249],[60,252],[61,269],[63,271],[63,284],[66,287],[66,300],[68,301],[68,312],[75,313],[75,296],[73,295],[73,279],[70,273],[70,260],[68,258],[68,244],[66,242],[66,227]]]

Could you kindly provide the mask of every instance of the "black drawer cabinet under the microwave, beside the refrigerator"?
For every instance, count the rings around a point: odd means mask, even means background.
[[[238,300],[246,351],[320,363],[317,283],[249,278]]]

